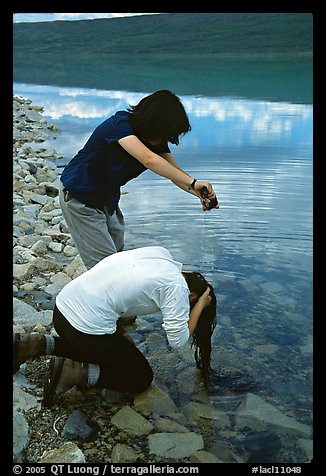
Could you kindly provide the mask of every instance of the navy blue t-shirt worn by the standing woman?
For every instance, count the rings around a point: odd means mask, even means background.
[[[147,170],[118,143],[122,137],[136,135],[129,116],[129,112],[118,111],[102,122],[61,175],[64,188],[77,200],[100,210],[106,205],[111,214],[118,206],[120,187]],[[157,154],[170,152],[166,142],[144,144]]]

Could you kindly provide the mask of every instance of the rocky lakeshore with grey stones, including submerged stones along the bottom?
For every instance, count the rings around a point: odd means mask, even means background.
[[[13,98],[13,330],[55,334],[55,296],[85,267],[58,201],[61,156],[42,147],[60,132],[42,113],[30,100]],[[13,378],[14,462],[310,461],[310,426],[250,391],[207,395],[192,350],[171,351],[158,327],[149,317],[128,328],[155,373],[139,395],[72,389],[58,405],[42,408],[49,358],[22,365]]]

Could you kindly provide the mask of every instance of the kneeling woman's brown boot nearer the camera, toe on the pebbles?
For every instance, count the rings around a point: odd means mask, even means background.
[[[43,406],[51,407],[57,397],[75,385],[87,388],[87,364],[64,357],[52,357],[44,383]]]

